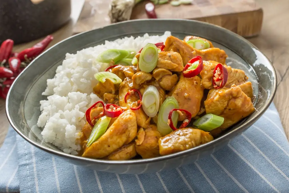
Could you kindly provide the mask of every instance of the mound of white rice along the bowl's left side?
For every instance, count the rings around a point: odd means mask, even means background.
[[[42,95],[47,100],[40,101],[41,115],[37,126],[44,127],[43,140],[57,146],[65,153],[77,154],[80,146],[75,144],[78,132],[85,125],[85,111],[100,99],[93,93],[97,84],[94,74],[103,71],[108,64],[99,63],[96,58],[107,49],[140,50],[147,43],[165,42],[171,32],[162,36],[125,37],[105,44],[89,47],[76,54],[66,54],[62,65],[56,69],[54,78],[47,80],[47,88]]]

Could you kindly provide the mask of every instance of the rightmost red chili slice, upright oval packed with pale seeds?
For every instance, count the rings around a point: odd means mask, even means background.
[[[221,89],[228,80],[228,71],[222,64],[217,64],[213,71],[212,84],[215,89]]]

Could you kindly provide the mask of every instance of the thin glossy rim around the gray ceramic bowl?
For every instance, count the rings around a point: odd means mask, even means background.
[[[112,25],[120,25],[122,23],[129,23],[129,22],[138,22],[138,21],[151,21],[152,19],[136,19],[136,20],[129,20],[129,21],[123,21],[123,22],[118,22],[118,23],[113,23],[113,24],[110,24],[108,26],[112,26]],[[48,147],[45,147],[45,146],[42,146],[34,141],[32,141],[31,139],[29,139],[29,137],[25,136],[23,133],[21,133],[20,130],[18,130],[16,128],[16,126],[13,124],[12,122],[12,119],[8,113],[8,99],[9,99],[9,96],[10,96],[10,91],[11,89],[9,89],[9,92],[7,94],[7,100],[6,100],[6,103],[5,103],[5,111],[6,111],[6,116],[8,118],[8,121],[10,123],[10,125],[14,128],[14,130],[21,136],[23,137],[26,141],[28,141],[30,144],[36,146],[37,148],[40,148],[41,150],[44,150],[48,153],[51,153],[53,155],[56,155],[56,156],[60,156],[60,157],[64,157],[64,158],[68,158],[68,159],[73,159],[73,160],[76,160],[76,161],[84,161],[84,162],[88,162],[88,163],[98,163],[98,164],[106,164],[106,165],[130,165],[130,164],[139,164],[139,163],[151,163],[151,162],[155,162],[155,161],[162,161],[162,160],[166,160],[166,159],[172,159],[174,157],[178,157],[178,156],[182,156],[182,155],[186,155],[186,154],[190,154],[192,152],[197,152],[197,151],[200,151],[208,146],[211,146],[211,147],[214,147],[214,145],[218,144],[219,142],[225,140],[225,139],[230,139],[231,140],[231,137],[234,137],[235,133],[239,133],[239,132],[242,132],[243,130],[249,128],[253,123],[255,123],[262,115],[263,113],[268,109],[268,107],[270,106],[271,102],[273,101],[273,98],[275,96],[275,93],[276,93],[276,90],[277,90],[277,74],[276,74],[276,71],[275,71],[275,68],[274,66],[272,65],[271,61],[268,59],[267,56],[265,56],[257,47],[255,47],[251,42],[249,42],[248,40],[246,40],[245,38],[243,38],[242,36],[234,33],[234,32],[231,32],[230,30],[227,30],[223,27],[220,27],[218,25],[214,25],[214,24],[210,24],[210,23],[206,23],[206,22],[202,22],[202,21],[196,21],[196,20],[189,20],[189,19],[153,19],[153,20],[157,20],[157,21],[188,21],[188,22],[191,22],[191,23],[199,23],[201,25],[205,25],[205,26],[214,26],[215,28],[218,28],[219,30],[225,32],[225,33],[229,33],[230,35],[234,36],[235,38],[238,38],[244,42],[246,42],[247,44],[250,45],[251,48],[254,48],[256,50],[258,50],[260,52],[260,54],[262,54],[267,60],[268,60],[268,63],[271,65],[272,69],[273,69],[273,90],[271,92],[271,95],[269,96],[266,104],[263,105],[263,108],[258,111],[256,113],[256,115],[254,115],[253,117],[250,117],[249,120],[246,120],[245,123],[241,124],[240,126],[234,128],[233,130],[225,133],[224,135],[218,137],[217,139],[214,139],[213,141],[210,141],[206,144],[202,144],[200,146],[197,146],[197,147],[194,147],[194,148],[191,148],[191,149],[188,149],[188,150],[184,150],[184,151],[181,151],[181,152],[176,152],[176,153],[173,153],[173,154],[169,154],[169,155],[164,155],[164,156],[160,156],[160,157],[155,157],[155,158],[148,158],[148,159],[132,159],[132,160],[121,160],[121,161],[112,161],[112,160],[101,160],[101,159],[92,159],[92,158],[87,158],[87,157],[81,157],[81,156],[77,156],[77,155],[71,155],[71,154],[66,154],[62,151],[56,151],[52,148],[48,148]],[[101,27],[101,28],[97,28],[97,29],[94,29],[94,30],[98,30],[98,29],[103,29],[103,28],[106,28],[108,26],[105,26],[105,27]],[[57,44],[53,45],[52,47],[50,47],[49,49],[47,49],[45,52],[43,52],[42,54],[40,54],[38,57],[36,57],[29,65],[31,65],[32,63],[34,63],[40,56],[42,56],[43,54],[46,54],[46,52],[48,52],[50,49],[54,49],[55,47],[58,46],[58,44],[68,40],[68,39],[71,39],[71,38],[74,38],[75,36],[78,36],[78,35],[81,35],[81,34],[85,34],[85,33],[88,33],[88,32],[91,32],[91,31],[94,31],[94,30],[90,30],[90,31],[86,31],[86,32],[81,32],[79,34],[75,34],[73,36],[70,36],[60,42],[58,42]],[[237,53],[238,54],[238,53]],[[28,66],[29,66],[28,65]],[[27,66],[27,67],[28,67]],[[14,86],[14,84],[17,82],[17,79],[22,75],[22,73],[27,69],[27,67],[18,75],[18,77],[15,79],[15,81],[13,82],[13,84],[11,85],[11,87]]]

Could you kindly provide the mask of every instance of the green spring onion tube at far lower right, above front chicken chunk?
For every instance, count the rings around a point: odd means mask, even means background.
[[[210,131],[224,123],[224,118],[214,114],[207,114],[193,122],[194,126],[203,131]]]

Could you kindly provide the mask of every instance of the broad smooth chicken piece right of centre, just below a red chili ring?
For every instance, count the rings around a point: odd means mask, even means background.
[[[192,114],[192,117],[195,117],[200,110],[203,91],[204,88],[201,86],[201,78],[199,76],[184,78],[181,73],[179,82],[168,95],[177,99],[179,109],[185,109]],[[184,119],[185,115],[179,116],[179,121]]]

